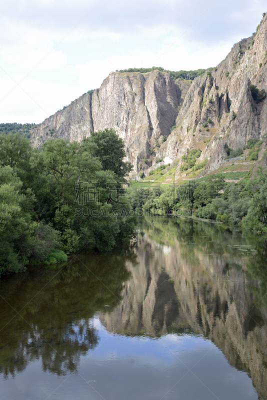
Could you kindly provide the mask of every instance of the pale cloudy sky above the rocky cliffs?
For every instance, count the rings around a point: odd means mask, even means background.
[[[116,69],[217,65],[265,0],[9,0],[0,8],[0,123],[39,123]]]

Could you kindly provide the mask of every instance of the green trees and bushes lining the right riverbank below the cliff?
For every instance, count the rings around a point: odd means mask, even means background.
[[[267,233],[267,170],[259,167],[251,179],[225,182],[224,173],[162,189],[151,185],[132,189],[131,204],[153,214],[182,210],[201,218],[229,221],[245,229]],[[180,214],[181,215],[181,214]]]

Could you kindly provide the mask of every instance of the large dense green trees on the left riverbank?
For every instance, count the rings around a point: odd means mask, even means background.
[[[40,149],[18,133],[0,135],[0,273],[64,261],[87,244],[111,250],[132,235],[124,156],[113,130],[81,143],[47,140]]]

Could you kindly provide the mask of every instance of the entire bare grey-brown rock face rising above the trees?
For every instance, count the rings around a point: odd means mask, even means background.
[[[91,98],[84,94],[46,118],[32,134],[33,145],[57,137],[80,141],[108,127],[124,140],[133,175],[147,174],[158,158],[179,166],[192,148],[202,150],[197,162],[208,159],[205,172],[212,171],[226,159],[225,147],[243,147],[267,133],[267,100],[256,103],[250,89],[267,90],[266,49],[267,14],[256,34],[193,81],[174,81],[158,70],[111,72]]]

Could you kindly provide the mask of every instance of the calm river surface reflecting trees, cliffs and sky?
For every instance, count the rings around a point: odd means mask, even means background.
[[[1,279],[1,400],[267,399],[266,257],[151,217],[135,246]]]

